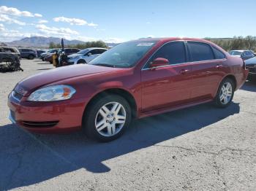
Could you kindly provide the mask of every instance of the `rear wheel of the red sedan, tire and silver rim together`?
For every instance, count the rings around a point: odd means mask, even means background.
[[[215,105],[225,108],[231,104],[235,92],[235,84],[232,79],[225,78],[219,85],[217,95],[214,98]]]

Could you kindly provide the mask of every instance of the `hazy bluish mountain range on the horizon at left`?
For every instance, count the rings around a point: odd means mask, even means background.
[[[50,42],[53,42],[54,44],[60,44],[61,39],[57,37],[44,37],[44,36],[32,36],[32,37],[26,37],[20,40],[15,40],[12,42],[4,42],[4,44],[7,44],[9,46],[13,47],[49,47]],[[64,39],[64,44],[83,44],[85,42],[80,40],[68,40]],[[113,47],[116,44],[115,43],[106,43],[109,47]]]

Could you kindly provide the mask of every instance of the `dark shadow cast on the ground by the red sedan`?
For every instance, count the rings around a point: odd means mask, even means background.
[[[203,104],[146,117],[132,122],[124,136],[109,143],[89,141],[80,132],[38,135],[4,125],[0,127],[0,190],[36,184],[80,168],[105,173],[111,171],[105,160],[206,128],[239,112],[236,103],[226,109]]]

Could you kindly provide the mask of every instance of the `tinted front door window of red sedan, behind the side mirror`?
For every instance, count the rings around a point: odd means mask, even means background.
[[[156,58],[166,58],[169,64],[185,63],[186,51],[184,42],[169,42],[161,47],[151,58],[154,61]],[[151,62],[149,61],[149,63]]]

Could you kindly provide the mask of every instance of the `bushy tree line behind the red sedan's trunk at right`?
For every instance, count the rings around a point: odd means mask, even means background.
[[[230,50],[253,50],[256,52],[256,38],[255,36],[234,36],[233,38],[205,38],[219,47],[222,47],[226,51]]]

